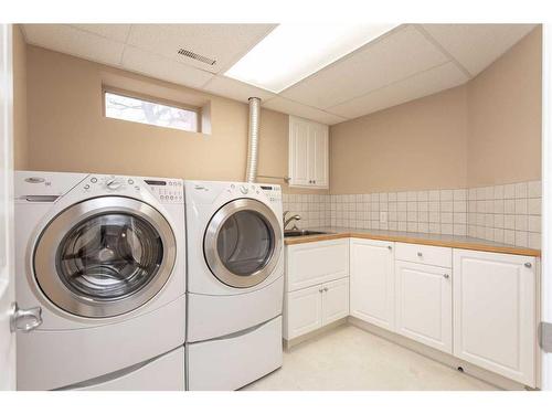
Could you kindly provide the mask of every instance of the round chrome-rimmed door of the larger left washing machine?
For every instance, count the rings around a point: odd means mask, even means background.
[[[176,262],[170,224],[151,205],[124,197],[74,204],[34,248],[34,276],[59,308],[83,317],[129,312],[156,296]]]

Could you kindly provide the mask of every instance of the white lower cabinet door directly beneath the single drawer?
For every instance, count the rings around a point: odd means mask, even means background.
[[[395,262],[396,332],[453,353],[450,268]]]

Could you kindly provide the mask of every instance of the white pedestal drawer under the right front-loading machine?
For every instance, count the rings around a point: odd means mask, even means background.
[[[188,390],[237,390],[283,363],[282,316],[227,337],[187,344]]]

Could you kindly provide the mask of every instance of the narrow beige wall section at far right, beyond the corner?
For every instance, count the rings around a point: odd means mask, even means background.
[[[468,185],[541,178],[542,30],[468,83]]]

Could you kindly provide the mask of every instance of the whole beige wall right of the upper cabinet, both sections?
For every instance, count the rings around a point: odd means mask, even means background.
[[[331,193],[541,177],[541,29],[467,84],[330,128]]]

